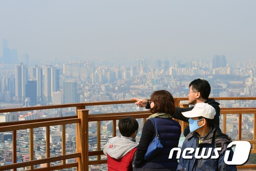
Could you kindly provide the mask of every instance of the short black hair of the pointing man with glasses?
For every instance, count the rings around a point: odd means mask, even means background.
[[[200,92],[202,98],[208,99],[211,93],[211,86],[208,81],[197,78],[189,84],[189,87],[191,86],[193,91]]]

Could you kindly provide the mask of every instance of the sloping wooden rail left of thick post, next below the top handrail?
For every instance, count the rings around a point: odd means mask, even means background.
[[[46,126],[53,126],[53,125],[60,125],[60,124],[75,124],[79,122],[80,122],[80,119],[64,119],[64,120],[40,122],[40,124],[32,123],[32,124],[9,125],[9,126],[0,127],[1,128],[0,132],[11,131],[11,130],[24,130],[24,129],[46,127]]]

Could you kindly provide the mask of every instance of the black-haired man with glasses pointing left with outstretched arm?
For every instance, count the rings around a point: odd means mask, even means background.
[[[211,92],[211,86],[208,83],[208,81],[204,79],[197,78],[193,80],[189,84],[189,92],[187,93],[188,97],[188,104],[197,104],[197,103],[207,103],[213,106],[213,108],[216,111],[216,115],[214,116],[213,123],[219,126],[219,103],[216,102],[213,98],[209,98]],[[132,98],[133,100],[136,100],[135,104],[139,107],[146,107],[146,109],[150,109],[150,104],[148,100],[145,99],[139,99],[139,98]],[[176,107],[176,112],[172,116],[175,119],[180,119],[182,121],[188,122],[187,117],[183,116],[181,112],[187,112],[192,110],[194,107],[190,108],[179,108]],[[184,130],[183,132],[184,136],[187,136],[189,134],[189,126]]]

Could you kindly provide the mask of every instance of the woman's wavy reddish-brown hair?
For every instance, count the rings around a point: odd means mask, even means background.
[[[154,107],[150,109],[152,114],[166,113],[173,115],[176,108],[174,105],[174,99],[170,92],[166,90],[158,90],[151,93],[151,100],[154,102]]]

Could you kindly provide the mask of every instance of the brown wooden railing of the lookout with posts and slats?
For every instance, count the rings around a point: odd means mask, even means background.
[[[175,105],[180,106],[181,100],[187,100],[187,98],[175,98]],[[256,100],[256,97],[235,97],[235,98],[215,98],[215,100]],[[108,113],[108,114],[89,114],[89,110],[85,109],[85,106],[97,106],[97,105],[107,105],[107,104],[131,104],[134,103],[133,100],[125,101],[111,101],[111,102],[93,102],[93,103],[80,103],[80,104],[63,104],[63,105],[50,105],[50,106],[37,106],[37,107],[27,107],[27,108],[15,108],[15,109],[0,109],[0,113],[5,112],[17,112],[17,111],[29,111],[29,110],[42,110],[42,109],[57,109],[57,108],[68,108],[76,107],[76,115],[70,117],[60,117],[51,119],[36,119],[28,121],[16,121],[16,122],[6,122],[0,123],[0,132],[12,131],[13,136],[13,164],[0,166],[0,171],[13,169],[16,171],[17,168],[28,167],[30,170],[35,171],[50,171],[58,170],[64,168],[77,167],[79,171],[88,171],[89,165],[103,164],[106,160],[101,160],[101,155],[103,151],[100,147],[101,142],[101,121],[112,120],[113,131],[112,135],[116,136],[116,120],[132,116],[136,119],[149,117],[149,111],[143,112],[125,112],[125,113]],[[187,107],[186,104],[181,104],[181,107]],[[221,114],[223,114],[223,132],[226,132],[226,114],[239,114],[239,136],[238,140],[241,140],[241,123],[242,114],[254,114],[254,135],[253,140],[248,140],[254,145],[251,153],[256,153],[256,108],[222,108]],[[88,145],[88,124],[89,122],[97,122],[97,150],[89,151]],[[62,125],[62,142],[65,142],[65,125],[66,124],[77,124],[76,126],[76,153],[65,154],[65,143],[62,143],[62,155],[56,157],[50,157],[50,126]],[[181,126],[184,128],[186,123],[180,122]],[[34,160],[33,154],[33,128],[46,127],[46,158],[40,160]],[[16,161],[16,131],[17,130],[30,130],[29,138],[29,149],[30,149],[30,161],[17,163]],[[96,161],[89,161],[90,156],[97,156]],[[67,164],[66,159],[76,158],[77,162]],[[50,166],[51,162],[62,161],[59,166]],[[33,166],[39,164],[46,164],[43,168],[34,168]],[[244,165],[237,166],[239,169],[256,168],[256,165]]]

